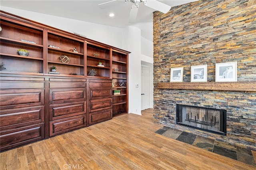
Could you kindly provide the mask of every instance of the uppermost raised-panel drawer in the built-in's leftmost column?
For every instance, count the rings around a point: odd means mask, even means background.
[[[44,89],[0,91],[1,109],[44,105]]]

